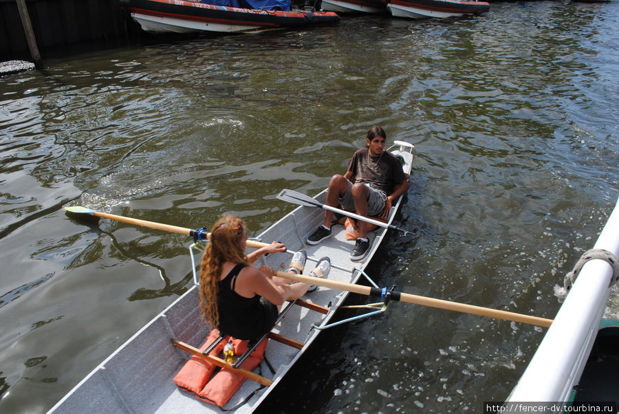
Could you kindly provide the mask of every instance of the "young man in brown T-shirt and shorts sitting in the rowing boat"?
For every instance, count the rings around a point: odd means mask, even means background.
[[[336,174],[329,182],[327,206],[351,210],[365,217],[387,219],[391,204],[409,189],[409,177],[402,171],[402,164],[395,155],[384,150],[387,134],[374,126],[367,132],[365,148],[356,151],[344,175]],[[325,210],[325,221],[307,239],[318,244],[331,237],[333,212]],[[350,259],[361,260],[370,248],[367,223],[358,221],[359,236]]]

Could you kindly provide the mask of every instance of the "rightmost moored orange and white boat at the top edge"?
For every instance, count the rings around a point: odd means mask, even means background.
[[[426,19],[428,17],[460,17],[490,10],[486,1],[466,0],[386,0],[387,10],[394,17]]]

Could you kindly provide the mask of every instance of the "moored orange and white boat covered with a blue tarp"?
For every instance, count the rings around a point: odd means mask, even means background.
[[[121,4],[146,32],[249,32],[340,21],[334,12],[291,0],[121,0]]]

